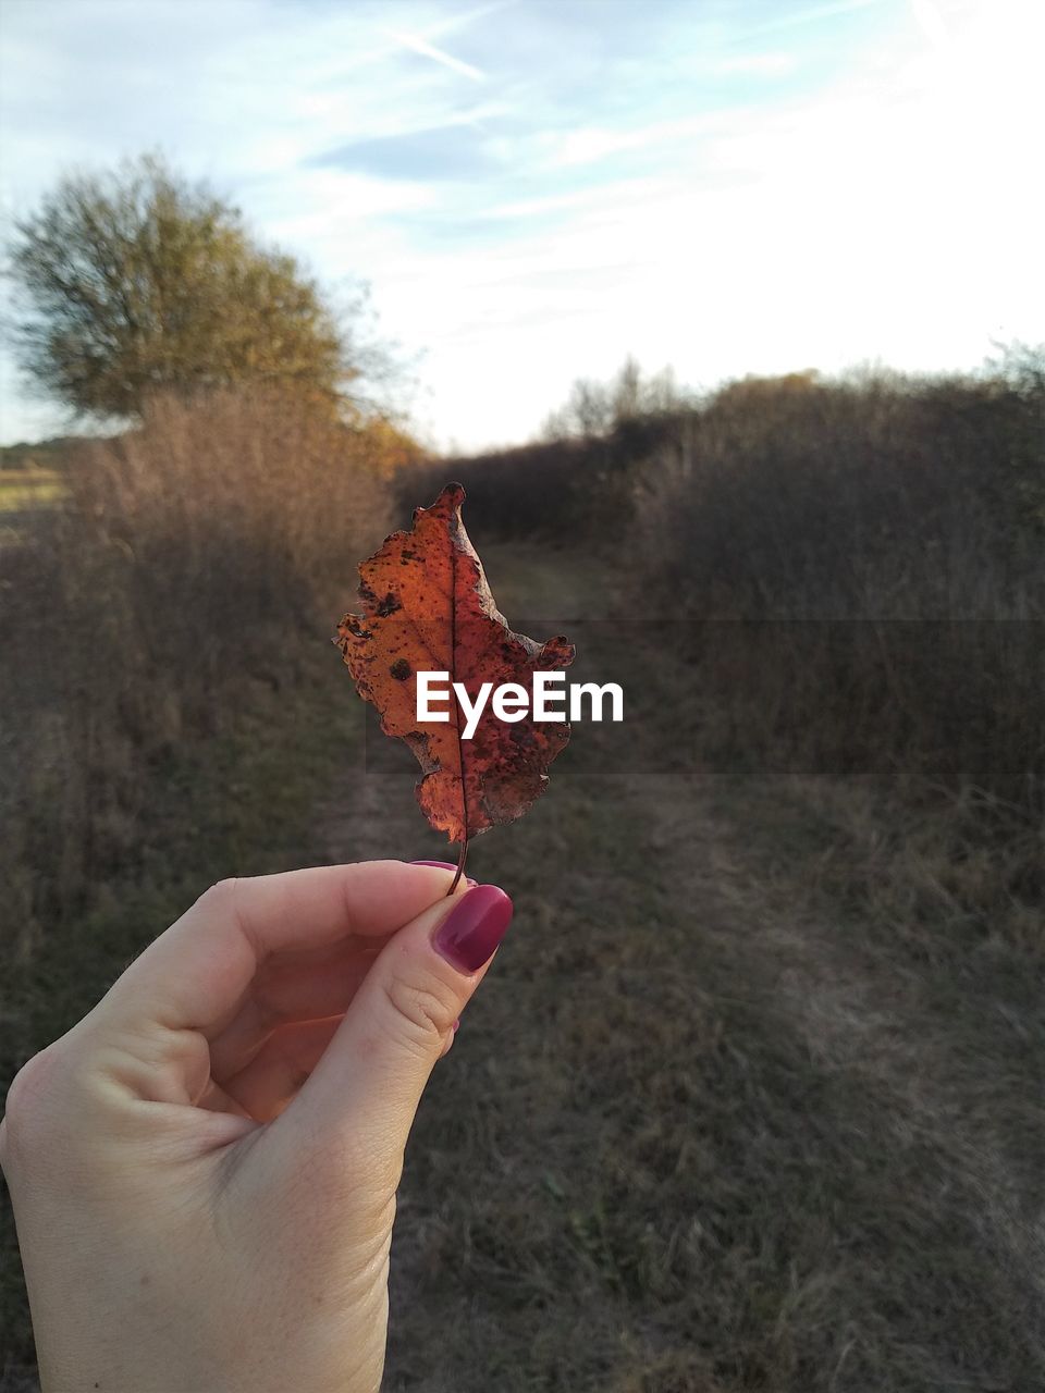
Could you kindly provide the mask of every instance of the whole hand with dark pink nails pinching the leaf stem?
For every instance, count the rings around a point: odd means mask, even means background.
[[[376,861],[213,886],[0,1123],[45,1393],[372,1393],[403,1149],[511,918]]]

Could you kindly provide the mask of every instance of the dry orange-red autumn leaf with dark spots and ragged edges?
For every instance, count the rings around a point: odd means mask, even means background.
[[[428,820],[467,847],[488,827],[520,818],[548,784],[548,766],[570,738],[567,722],[499,720],[489,702],[471,740],[451,698],[447,723],[417,719],[417,673],[444,671],[474,702],[496,690],[573,662],[564,638],[543,646],[514,634],[497,612],[461,522],[464,489],[447,483],[431,508],[417,508],[410,532],[393,532],[359,566],[361,613],[337,630],[359,695],[380,713],[382,730],[417,755],[417,800]]]

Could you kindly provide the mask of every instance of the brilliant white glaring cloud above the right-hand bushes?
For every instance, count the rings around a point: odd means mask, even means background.
[[[1039,45],[1021,18],[1017,31],[980,7],[945,49],[872,54],[857,79],[772,121],[748,111],[716,130],[692,171],[680,155],[674,182],[578,196],[568,224],[524,255],[443,262],[461,326],[429,362],[446,417],[475,443],[509,439],[574,376],[609,373],[628,351],[715,382],[876,359],[974,366],[992,337],[1041,337]],[[716,169],[736,178],[701,177]],[[575,284],[556,288],[548,319],[529,297],[536,322],[522,322],[514,277],[571,265]],[[594,274],[621,265],[609,284]],[[483,332],[513,315],[510,334]],[[468,365],[495,337],[511,387],[492,397]]]

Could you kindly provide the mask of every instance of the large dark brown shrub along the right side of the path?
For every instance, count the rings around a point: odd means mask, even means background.
[[[645,471],[637,564],[691,621],[720,748],[1041,815],[1032,410],[999,379],[803,378],[684,422]]]

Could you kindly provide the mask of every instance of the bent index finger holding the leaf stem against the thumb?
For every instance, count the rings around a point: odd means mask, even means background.
[[[103,1007],[128,1024],[220,1025],[273,953],[386,937],[446,894],[450,880],[449,871],[404,861],[222,880],[135,958]]]

